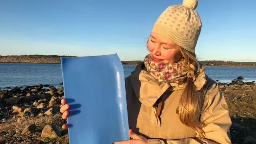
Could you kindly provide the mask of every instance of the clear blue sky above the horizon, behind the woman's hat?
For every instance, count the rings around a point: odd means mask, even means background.
[[[199,60],[256,61],[256,0],[198,0]],[[143,60],[161,12],[182,0],[0,0],[0,55]]]

